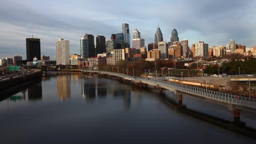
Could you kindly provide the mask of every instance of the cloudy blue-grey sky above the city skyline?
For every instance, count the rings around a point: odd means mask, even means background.
[[[158,22],[166,42],[175,28],[189,47],[198,41],[226,46],[231,39],[254,47],[255,6],[255,0],[0,0],[0,58],[26,59],[26,38],[32,35],[51,60],[59,38],[69,40],[70,54],[80,54],[85,33],[108,40],[122,32],[122,23],[131,33],[137,28],[146,47],[154,42]]]

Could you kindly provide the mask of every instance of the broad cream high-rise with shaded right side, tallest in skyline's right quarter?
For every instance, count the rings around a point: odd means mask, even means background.
[[[204,42],[198,42],[195,44],[195,56],[209,57],[208,44]]]

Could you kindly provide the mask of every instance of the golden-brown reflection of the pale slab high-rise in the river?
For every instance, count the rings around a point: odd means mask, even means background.
[[[71,98],[71,76],[57,75],[57,91],[61,101]]]

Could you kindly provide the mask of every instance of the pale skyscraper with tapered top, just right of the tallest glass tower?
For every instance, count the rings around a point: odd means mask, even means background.
[[[145,46],[145,40],[141,38],[141,33],[138,29],[135,29],[132,33],[132,48],[140,49]]]

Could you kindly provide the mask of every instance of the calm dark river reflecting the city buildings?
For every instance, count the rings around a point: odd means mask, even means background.
[[[198,115],[203,115],[203,117]],[[75,72],[48,72],[0,102],[5,143],[231,143],[255,144],[256,114],[241,112],[236,131],[227,107],[157,88]],[[238,128],[239,129],[239,128]],[[249,129],[249,130],[248,130]]]

